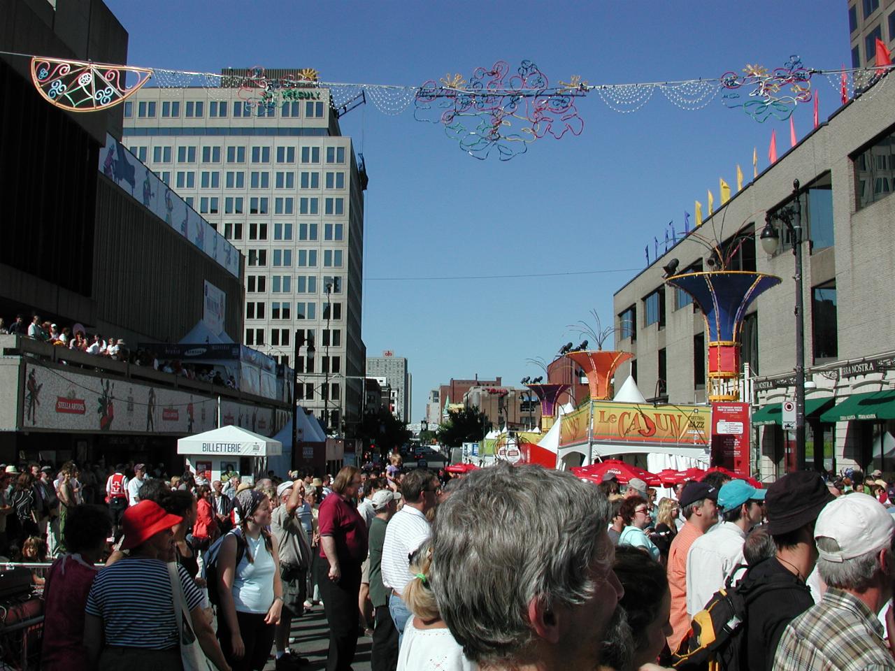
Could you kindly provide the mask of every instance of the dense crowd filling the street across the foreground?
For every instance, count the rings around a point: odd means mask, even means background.
[[[302,668],[293,626],[321,606],[328,671],[364,634],[374,671],[895,669],[895,517],[854,484],[709,473],[656,501],[532,465],[402,466],[250,484],[121,464],[105,505],[87,467],[5,467],[6,538],[55,557],[42,668],[180,668],[184,624],[222,671]],[[737,622],[712,623],[734,594]]]

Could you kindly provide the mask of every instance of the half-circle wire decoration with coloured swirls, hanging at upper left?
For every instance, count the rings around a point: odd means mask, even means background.
[[[128,74],[136,77],[127,86]],[[31,57],[31,81],[48,103],[69,112],[97,112],[114,107],[149,81],[152,71],[62,58]]]

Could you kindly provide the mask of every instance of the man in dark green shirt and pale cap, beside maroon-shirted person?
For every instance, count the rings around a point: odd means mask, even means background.
[[[382,584],[382,544],[386,539],[389,518],[397,510],[399,494],[391,489],[379,489],[370,499],[376,516],[370,523],[370,599],[375,625],[371,650],[372,671],[395,671],[397,667],[397,629],[388,612],[388,594]]]

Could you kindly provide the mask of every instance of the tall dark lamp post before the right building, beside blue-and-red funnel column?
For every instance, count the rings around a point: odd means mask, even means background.
[[[802,297],[802,207],[798,200],[798,180],[792,183],[793,203],[781,208],[775,216],[783,222],[796,257],[796,467],[805,468],[805,310]],[[780,234],[771,225],[771,215],[765,216],[761,234],[762,248],[773,254],[780,246]]]

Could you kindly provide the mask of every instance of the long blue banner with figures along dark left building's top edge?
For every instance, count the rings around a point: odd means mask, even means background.
[[[99,172],[139,200],[144,208],[192,242],[234,277],[239,276],[239,251],[217,233],[196,210],[144,166],[124,145],[106,135],[99,150]],[[138,187],[139,184],[139,187]]]

